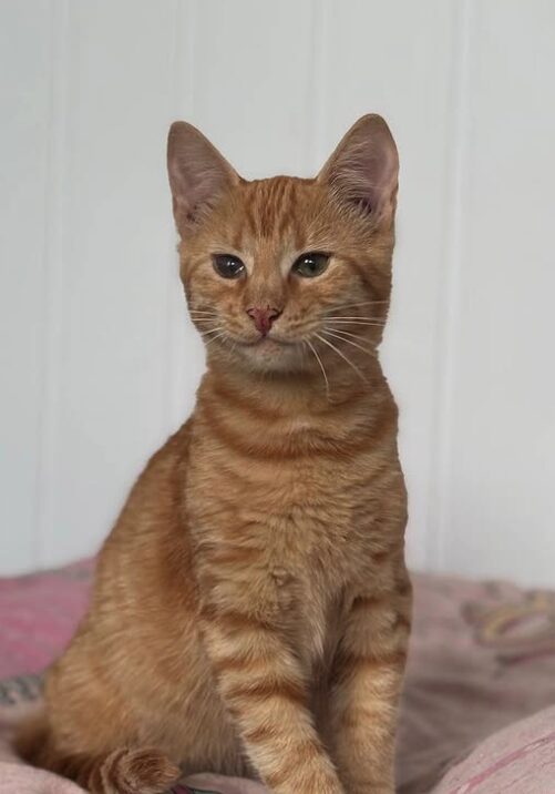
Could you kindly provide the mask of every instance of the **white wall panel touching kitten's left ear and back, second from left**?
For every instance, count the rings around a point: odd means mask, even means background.
[[[96,548],[167,430],[174,23],[169,2],[70,7],[44,564]]]

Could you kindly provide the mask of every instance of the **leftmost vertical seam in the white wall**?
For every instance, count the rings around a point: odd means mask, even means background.
[[[69,0],[51,2],[51,77],[48,120],[47,179],[44,189],[44,241],[42,256],[42,316],[40,339],[41,396],[38,423],[38,464],[33,566],[44,566],[45,537],[53,526],[54,448],[58,390],[60,387],[60,342],[62,338],[61,292],[62,184],[65,150],[68,91]]]

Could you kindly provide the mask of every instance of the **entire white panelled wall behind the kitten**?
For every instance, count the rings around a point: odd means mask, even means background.
[[[555,586],[554,37],[552,0],[3,0],[0,571],[94,550],[192,408],[169,122],[312,174],[379,111],[411,561]]]

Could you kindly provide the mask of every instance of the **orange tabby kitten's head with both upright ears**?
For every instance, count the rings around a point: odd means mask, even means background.
[[[312,180],[247,182],[191,124],[168,138],[181,274],[210,358],[259,371],[363,368],[391,285],[398,155],[366,115]]]

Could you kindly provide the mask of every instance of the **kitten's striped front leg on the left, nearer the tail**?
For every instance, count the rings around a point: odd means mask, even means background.
[[[202,631],[219,692],[253,766],[276,794],[343,794],[307,706],[271,583],[201,578]]]

